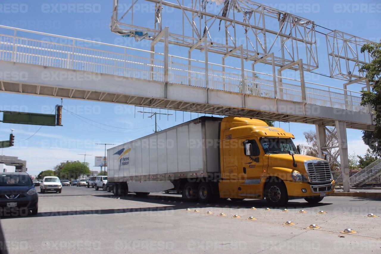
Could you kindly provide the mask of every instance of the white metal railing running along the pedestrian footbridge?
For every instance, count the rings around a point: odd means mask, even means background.
[[[166,81],[165,59],[162,53],[13,27],[0,26],[0,28],[14,32],[14,35],[0,34],[0,60]],[[32,34],[34,37],[35,34],[40,34],[49,38],[64,38],[66,43],[20,37],[16,36],[17,32]],[[87,43],[89,47],[79,46],[78,42]],[[274,86],[274,77],[269,74],[215,63],[208,63],[207,68],[208,77],[206,77],[205,62],[170,55],[168,82],[266,98],[275,98],[274,87],[276,87],[277,98],[303,101],[300,80],[276,76],[282,79],[282,82],[278,81]],[[283,79],[292,82],[283,82]],[[242,89],[243,82],[245,91]],[[299,82],[299,85],[290,84],[295,82]],[[305,87],[308,103],[369,113],[367,106],[360,105],[359,92],[311,82],[305,82]]]

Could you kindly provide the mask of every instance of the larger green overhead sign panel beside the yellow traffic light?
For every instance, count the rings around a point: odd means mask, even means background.
[[[2,111],[3,122],[9,124],[33,124],[56,126],[56,115]]]

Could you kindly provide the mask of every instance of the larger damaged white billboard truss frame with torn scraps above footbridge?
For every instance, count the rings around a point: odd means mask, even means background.
[[[145,10],[149,11],[143,11]],[[151,25],[141,14],[152,17]],[[146,14],[148,13],[148,14]],[[151,16],[152,15],[152,16]],[[138,19],[139,18],[139,19]],[[174,25],[176,24],[176,25]],[[314,21],[250,0],[114,0],[111,31],[136,31],[154,39],[168,26],[169,43],[256,61],[274,53],[275,66],[303,60],[303,69],[317,69]],[[207,40],[205,40],[205,38]],[[205,47],[207,43],[207,47]],[[272,64],[272,59],[264,59]],[[293,66],[291,69],[298,69]]]

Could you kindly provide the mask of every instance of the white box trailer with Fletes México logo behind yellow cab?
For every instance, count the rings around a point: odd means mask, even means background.
[[[147,194],[179,189],[182,180],[217,179],[221,121],[200,117],[108,149],[114,193]]]

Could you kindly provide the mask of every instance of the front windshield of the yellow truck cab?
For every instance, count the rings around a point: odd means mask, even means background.
[[[260,141],[267,154],[288,153],[288,151],[298,153],[291,138],[261,138]]]

